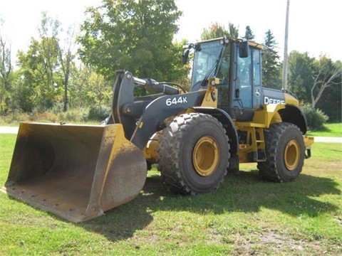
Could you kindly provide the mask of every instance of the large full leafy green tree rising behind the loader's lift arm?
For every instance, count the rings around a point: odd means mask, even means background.
[[[180,59],[175,60],[172,39],[181,12],[174,0],[103,0],[86,14],[78,53],[106,78],[123,69],[156,80],[176,72]]]

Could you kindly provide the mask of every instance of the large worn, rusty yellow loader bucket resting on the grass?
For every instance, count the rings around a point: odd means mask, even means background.
[[[121,124],[22,122],[1,191],[79,223],[133,200],[146,175],[145,157]]]

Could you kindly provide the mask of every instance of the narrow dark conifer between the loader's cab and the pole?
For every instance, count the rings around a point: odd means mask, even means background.
[[[279,55],[276,51],[276,41],[273,33],[268,30],[264,37],[264,50],[262,56],[262,84],[264,87],[281,89],[281,70]]]

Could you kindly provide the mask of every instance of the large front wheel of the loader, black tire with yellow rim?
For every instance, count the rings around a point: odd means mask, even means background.
[[[222,124],[209,114],[182,114],[162,130],[158,170],[179,193],[208,193],[227,174],[229,143]]]

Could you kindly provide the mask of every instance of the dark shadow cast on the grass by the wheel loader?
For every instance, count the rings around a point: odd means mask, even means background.
[[[253,170],[240,171],[238,176],[228,175],[220,188],[212,193],[183,196],[168,191],[160,176],[155,175],[147,178],[135,200],[78,225],[115,241],[130,238],[136,230],[145,228],[157,211],[222,214],[269,208],[289,215],[314,217],[337,209],[337,206],[317,198],[324,194],[341,194],[337,186],[338,183],[331,178],[306,174],[301,174],[293,183],[271,183],[263,181],[258,171]]]

